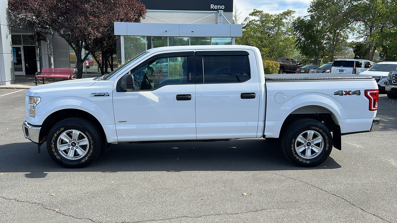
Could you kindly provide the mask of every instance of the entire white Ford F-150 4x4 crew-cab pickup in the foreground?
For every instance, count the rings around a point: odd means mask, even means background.
[[[168,69],[156,68],[150,81],[148,67],[164,58]],[[378,130],[377,108],[372,77],[264,75],[255,47],[171,46],[102,77],[30,88],[22,125],[39,151],[46,142],[69,168],[118,142],[239,138],[280,138],[291,162],[313,167],[341,150],[341,135]]]

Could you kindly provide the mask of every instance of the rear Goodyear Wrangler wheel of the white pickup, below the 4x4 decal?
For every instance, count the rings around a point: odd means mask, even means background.
[[[292,163],[301,167],[314,167],[330,156],[332,135],[323,123],[314,119],[300,119],[286,129],[281,147]]]

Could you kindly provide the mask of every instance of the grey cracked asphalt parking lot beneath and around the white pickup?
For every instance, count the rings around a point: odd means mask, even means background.
[[[385,94],[379,131],[342,136],[314,168],[245,139],[119,143],[66,169],[23,136],[25,92],[0,89],[1,222],[397,222],[397,100]]]

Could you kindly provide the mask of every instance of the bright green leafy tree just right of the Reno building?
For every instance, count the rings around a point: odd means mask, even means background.
[[[236,39],[236,44],[258,47],[264,59],[293,56],[295,38],[291,23],[294,13],[293,10],[287,10],[272,15],[254,9],[244,19],[243,36]]]

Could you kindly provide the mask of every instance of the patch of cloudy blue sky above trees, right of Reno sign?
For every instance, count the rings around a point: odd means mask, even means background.
[[[254,8],[270,14],[290,9],[295,11],[295,16],[307,15],[310,2],[311,0],[233,0],[233,4],[236,4],[241,12],[240,23]]]

